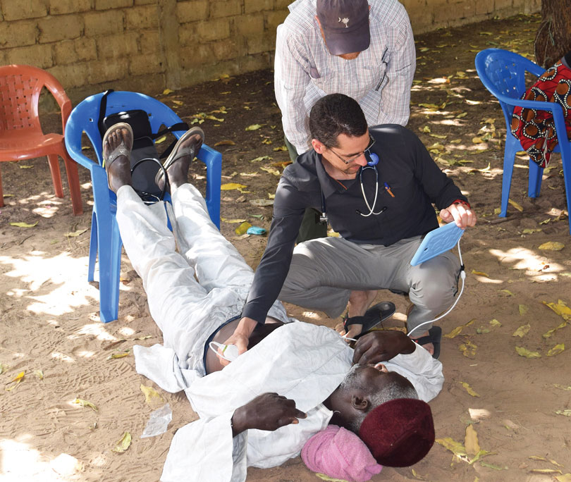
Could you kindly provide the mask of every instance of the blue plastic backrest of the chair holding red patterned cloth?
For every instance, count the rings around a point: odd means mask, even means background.
[[[526,71],[539,77],[545,70],[520,54],[503,49],[482,50],[475,63],[481,83],[500,101],[509,126],[514,106],[505,104],[500,97],[520,99],[525,92]]]

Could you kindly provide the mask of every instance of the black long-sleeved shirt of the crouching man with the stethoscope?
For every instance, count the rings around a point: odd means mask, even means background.
[[[378,180],[372,168],[362,168],[354,180],[335,180],[313,150],[285,168],[276,190],[266,250],[242,316],[264,323],[288,275],[305,209],[321,211],[322,194],[333,230],[357,244],[384,246],[438,228],[433,203],[443,209],[456,199],[467,200],[413,132],[395,124],[369,128],[369,132],[375,139],[371,150],[379,156]],[[359,214],[370,212],[362,189],[369,206],[381,214]]]

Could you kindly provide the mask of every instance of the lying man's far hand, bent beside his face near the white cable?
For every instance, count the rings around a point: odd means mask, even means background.
[[[353,364],[376,364],[396,357],[411,354],[417,345],[402,331],[377,330],[363,335],[355,343]]]

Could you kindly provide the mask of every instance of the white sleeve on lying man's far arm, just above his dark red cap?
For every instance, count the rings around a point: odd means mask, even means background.
[[[441,362],[432,358],[432,355],[419,345],[411,354],[398,354],[384,365],[388,371],[396,371],[405,376],[424,402],[429,402],[442,390],[444,376]]]

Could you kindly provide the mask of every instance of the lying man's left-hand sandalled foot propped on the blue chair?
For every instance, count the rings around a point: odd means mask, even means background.
[[[117,192],[121,186],[131,184],[130,149],[127,147],[133,145],[130,136],[131,133],[127,129],[118,128],[113,130],[103,143],[103,159],[109,187],[113,192]],[[118,152],[113,152],[118,148]]]

